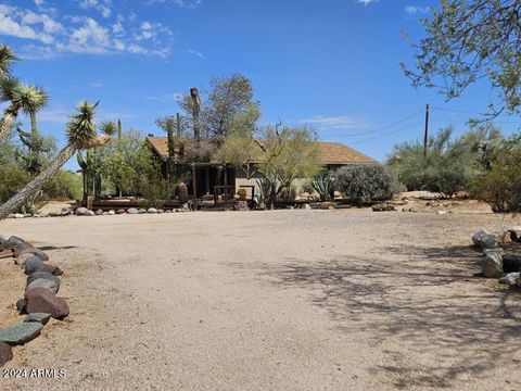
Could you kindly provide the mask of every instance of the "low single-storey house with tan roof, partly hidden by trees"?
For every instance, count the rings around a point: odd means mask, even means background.
[[[152,152],[163,162],[163,173],[167,176],[166,162],[168,160],[168,139],[166,137],[154,137],[149,135],[147,142],[151,147]],[[330,171],[335,171],[344,165],[351,164],[374,164],[376,160],[369,157],[340,142],[322,142],[316,141],[319,149],[319,162],[322,166]],[[260,162],[252,162],[258,164]],[[241,168],[236,168],[230,164],[218,161],[208,163],[196,163],[192,167],[192,174],[195,178],[198,198],[205,194],[214,194],[215,187],[218,190],[229,187],[233,192],[240,187],[256,186],[258,174],[247,178]],[[308,179],[295,180],[295,186],[302,188],[302,185]],[[191,192],[191,186],[189,187]]]

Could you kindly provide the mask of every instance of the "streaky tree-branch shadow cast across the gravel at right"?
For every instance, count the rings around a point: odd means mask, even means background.
[[[373,346],[387,360],[370,370],[386,371],[396,387],[450,387],[455,379],[487,377],[496,366],[519,366],[521,293],[476,277],[480,253],[473,248],[374,253],[288,260],[263,274],[275,285],[313,289],[312,302],[341,330],[371,330]],[[385,350],[390,338],[404,341],[403,348]]]

